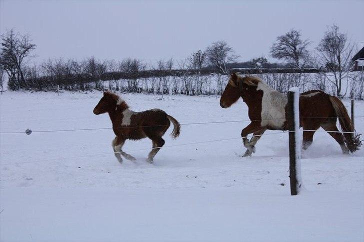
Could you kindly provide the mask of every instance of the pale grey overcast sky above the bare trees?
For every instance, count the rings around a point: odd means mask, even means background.
[[[240,60],[269,57],[290,28],[317,45],[327,25],[363,45],[364,1],[7,1],[0,0],[0,31],[31,35],[36,61],[48,57],[147,62],[181,59],[225,40]]]

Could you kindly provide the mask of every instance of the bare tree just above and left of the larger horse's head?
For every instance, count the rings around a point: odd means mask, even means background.
[[[219,74],[228,74],[227,64],[234,62],[239,57],[225,41],[213,42],[206,48],[206,56],[210,64]]]

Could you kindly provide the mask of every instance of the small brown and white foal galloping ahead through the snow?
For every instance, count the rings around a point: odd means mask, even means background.
[[[122,151],[125,140],[139,140],[148,137],[152,141],[147,162],[152,163],[153,158],[165,141],[162,139],[165,131],[173,124],[171,136],[177,138],[180,125],[172,116],[160,109],[150,109],[142,112],[133,112],[126,102],[115,93],[105,91],[103,97],[93,109],[98,115],[108,113],[112,123],[112,130],[116,137],[112,140],[112,149],[116,159],[121,163],[120,154],[127,160],[133,161],[134,157]]]

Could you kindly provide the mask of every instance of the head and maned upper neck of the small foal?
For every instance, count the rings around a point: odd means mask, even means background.
[[[93,109],[93,113],[98,115],[102,113],[109,113],[116,111],[119,108],[128,108],[127,104],[115,93],[105,91],[103,92],[103,97],[97,103],[96,107]]]

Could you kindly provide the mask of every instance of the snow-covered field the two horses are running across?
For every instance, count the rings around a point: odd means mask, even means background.
[[[0,135],[1,241],[364,240],[363,148],[343,155],[317,132],[302,153],[305,190],[290,196],[287,132],[267,131],[241,158],[248,122],[182,125],[176,140],[170,128],[153,165],[148,139],[126,141],[137,161],[120,165],[111,129],[35,132],[111,127],[108,115],[92,113],[101,96],[0,96],[1,132],[34,131]],[[214,96],[122,97],[134,111],[160,108],[181,124],[248,119],[241,100],[222,109]],[[355,116],[363,115],[356,101]],[[363,118],[355,127],[364,132]],[[220,139],[230,140],[182,145]]]

